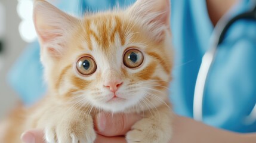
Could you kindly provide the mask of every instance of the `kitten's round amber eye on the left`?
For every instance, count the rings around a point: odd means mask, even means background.
[[[79,58],[78,62],[76,63],[76,69],[78,69],[79,73],[88,76],[97,70],[97,65],[91,57],[85,56]]]

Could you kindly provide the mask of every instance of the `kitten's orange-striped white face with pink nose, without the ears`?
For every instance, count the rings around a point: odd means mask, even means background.
[[[58,44],[65,48],[61,56],[49,60],[58,49],[42,50],[50,88],[65,100],[112,112],[162,104],[171,78],[169,31],[150,29],[125,11],[76,21]]]

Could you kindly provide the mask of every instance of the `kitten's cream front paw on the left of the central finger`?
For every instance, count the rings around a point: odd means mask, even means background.
[[[45,128],[47,143],[93,143],[96,133],[93,124],[79,121],[60,121]]]

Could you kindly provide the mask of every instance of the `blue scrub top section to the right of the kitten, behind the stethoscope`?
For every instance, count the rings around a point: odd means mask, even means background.
[[[225,16],[248,11],[252,1],[239,1]],[[196,77],[210,47],[214,26],[205,0],[172,0],[171,27],[175,48],[171,98],[176,113],[193,117]],[[203,122],[236,132],[255,132],[246,122],[256,103],[256,23],[240,20],[219,45],[203,98]]]

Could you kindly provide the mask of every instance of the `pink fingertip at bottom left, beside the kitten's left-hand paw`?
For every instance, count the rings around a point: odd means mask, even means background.
[[[28,130],[21,135],[21,141],[24,143],[45,143],[44,132],[42,130]]]

